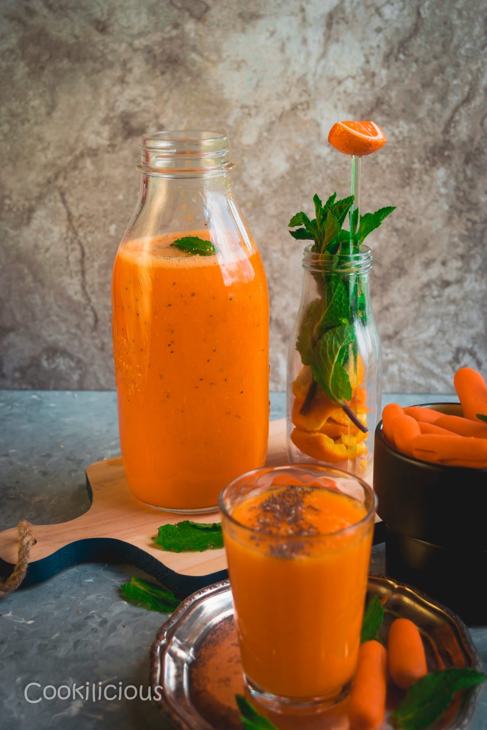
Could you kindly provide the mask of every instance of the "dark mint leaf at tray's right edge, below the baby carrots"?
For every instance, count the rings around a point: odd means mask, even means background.
[[[445,712],[453,695],[483,683],[486,675],[477,669],[442,669],[415,682],[391,717],[404,730],[423,730]]]

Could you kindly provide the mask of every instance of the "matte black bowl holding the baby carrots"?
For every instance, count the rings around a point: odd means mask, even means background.
[[[461,415],[460,404],[423,407]],[[386,572],[487,624],[487,469],[404,456],[375,430],[374,490],[386,526]]]

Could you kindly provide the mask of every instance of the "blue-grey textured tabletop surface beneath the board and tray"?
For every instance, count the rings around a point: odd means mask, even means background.
[[[434,399],[392,393],[383,403]],[[271,407],[272,418],[283,417],[283,393],[272,393]],[[116,420],[114,393],[0,391],[0,530],[22,518],[61,522],[87,510],[84,469],[118,455]],[[385,572],[383,546],[373,549],[371,569]],[[139,699],[24,699],[31,682],[122,682],[142,685],[146,694],[149,648],[166,617],[121,598],[120,584],[131,575],[147,577],[128,565],[81,564],[0,601],[1,730],[167,727],[156,707]],[[486,629],[471,633],[486,670]],[[31,689],[32,699],[38,691]],[[472,730],[486,728],[483,691]]]

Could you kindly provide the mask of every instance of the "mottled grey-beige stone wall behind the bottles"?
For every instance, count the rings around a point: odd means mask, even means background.
[[[386,391],[487,374],[482,0],[2,0],[0,387],[112,388],[110,269],[138,137],[212,128],[264,255],[272,387],[302,272],[290,215],[347,193],[334,121],[388,135],[364,160]]]

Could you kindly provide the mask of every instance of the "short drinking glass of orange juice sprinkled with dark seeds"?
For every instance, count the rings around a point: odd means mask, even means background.
[[[274,709],[321,707],[356,669],[375,496],[318,466],[256,469],[220,499],[245,680]]]

